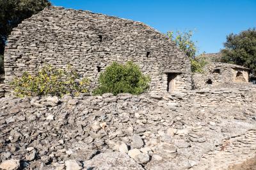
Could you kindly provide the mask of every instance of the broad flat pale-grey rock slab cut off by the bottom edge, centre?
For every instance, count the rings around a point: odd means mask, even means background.
[[[136,163],[125,153],[110,152],[100,153],[92,158],[83,162],[84,169],[131,169],[143,170],[140,164]]]

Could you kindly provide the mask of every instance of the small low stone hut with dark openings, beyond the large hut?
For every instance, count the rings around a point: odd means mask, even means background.
[[[195,88],[248,86],[249,68],[228,63],[209,63],[204,68],[204,73],[193,75]]]

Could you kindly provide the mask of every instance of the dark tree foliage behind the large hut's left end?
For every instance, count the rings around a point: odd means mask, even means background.
[[[13,27],[50,5],[48,0],[0,0],[0,55],[4,53],[7,37]],[[0,64],[3,68],[3,64]],[[3,73],[3,69],[0,73]]]

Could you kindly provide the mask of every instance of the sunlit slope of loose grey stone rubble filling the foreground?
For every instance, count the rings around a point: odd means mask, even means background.
[[[256,153],[256,104],[161,95],[0,98],[0,169],[228,169]]]

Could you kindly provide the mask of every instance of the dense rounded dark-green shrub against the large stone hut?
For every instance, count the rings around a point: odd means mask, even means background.
[[[93,91],[94,95],[104,93],[131,93],[139,95],[149,88],[150,77],[141,73],[140,68],[128,61],[125,65],[113,62],[100,74],[99,87]]]

